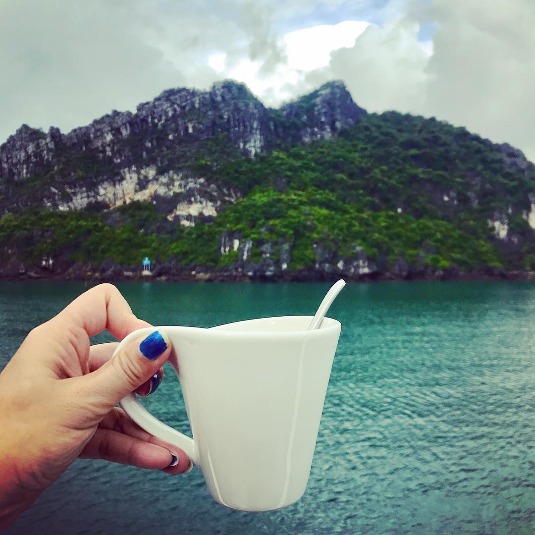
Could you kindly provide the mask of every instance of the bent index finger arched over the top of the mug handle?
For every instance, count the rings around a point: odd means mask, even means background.
[[[112,284],[91,288],[67,305],[56,318],[70,320],[89,336],[107,329],[119,340],[132,331],[151,326],[134,316],[125,298]]]

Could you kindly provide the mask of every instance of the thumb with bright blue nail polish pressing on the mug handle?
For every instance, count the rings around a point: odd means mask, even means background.
[[[162,367],[171,354],[171,342],[162,331],[154,331],[129,343],[108,362],[84,376],[91,397],[109,411]],[[88,384],[90,383],[90,384]]]

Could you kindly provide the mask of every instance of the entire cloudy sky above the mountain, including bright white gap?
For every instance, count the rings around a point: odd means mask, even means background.
[[[535,0],[0,0],[0,142],[170,87],[246,82],[277,106],[327,80],[535,161]]]

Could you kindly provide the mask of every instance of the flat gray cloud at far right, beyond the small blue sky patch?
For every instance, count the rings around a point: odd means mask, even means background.
[[[438,0],[440,25],[426,68],[422,112],[535,159],[535,3],[532,0]]]

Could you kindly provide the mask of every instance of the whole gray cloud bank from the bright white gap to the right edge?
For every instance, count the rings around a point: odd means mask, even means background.
[[[490,9],[486,0],[434,0],[406,12],[334,51],[299,90],[339,78],[369,111],[435,116],[535,160],[535,3],[495,0]],[[429,21],[439,27],[432,55],[417,38]]]

